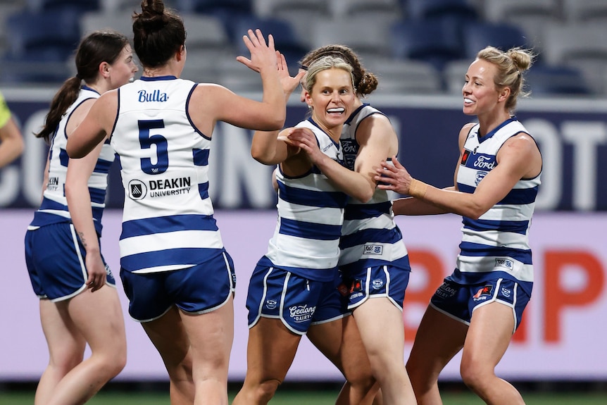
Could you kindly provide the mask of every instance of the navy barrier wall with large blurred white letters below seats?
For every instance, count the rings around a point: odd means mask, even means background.
[[[54,89],[0,89],[20,121],[25,154],[0,170],[0,207],[35,207],[40,200],[46,147],[32,132],[42,125]],[[254,95],[255,96],[255,95]],[[437,187],[453,184],[458,157],[457,135],[470,120],[461,98],[403,96],[369,100],[380,107],[401,137],[399,160],[414,177]],[[306,113],[296,100],[287,125]],[[544,156],[539,211],[607,211],[607,100],[526,99],[518,118],[537,139]],[[272,168],[249,154],[252,133],[218,123],[211,151],[211,196],[218,209],[273,208]],[[121,207],[123,189],[113,166],[108,206]]]

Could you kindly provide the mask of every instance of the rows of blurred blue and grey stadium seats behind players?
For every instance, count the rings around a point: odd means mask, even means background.
[[[130,13],[139,4],[0,0],[0,80],[63,80],[80,36],[112,28],[132,37]],[[420,92],[433,92],[436,82],[442,91],[461,92],[468,64],[491,44],[532,47],[539,54],[529,73],[536,96],[584,94],[589,83],[590,93],[607,94],[606,0],[165,0],[165,5],[184,18],[189,58],[184,74],[194,80],[228,80],[228,72],[242,73],[234,58],[246,54],[242,35],[256,25],[275,35],[292,71],[317,46],[351,46],[381,73],[381,92],[411,91],[414,83],[407,77],[425,74],[434,78]],[[51,17],[41,20],[41,11]],[[579,73],[582,80],[575,85]],[[242,76],[232,85],[261,85],[256,75]]]

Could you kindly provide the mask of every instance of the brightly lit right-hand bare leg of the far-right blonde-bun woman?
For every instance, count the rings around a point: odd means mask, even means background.
[[[515,387],[495,375],[513,330],[514,315],[509,306],[493,302],[473,312],[463,346],[461,375],[465,385],[489,405],[525,404]]]

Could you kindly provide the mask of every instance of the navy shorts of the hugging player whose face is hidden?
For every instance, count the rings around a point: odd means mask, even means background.
[[[348,309],[355,309],[370,297],[387,297],[402,311],[409,274],[409,269],[389,265],[362,268],[358,273],[344,273],[342,294],[349,299]]]

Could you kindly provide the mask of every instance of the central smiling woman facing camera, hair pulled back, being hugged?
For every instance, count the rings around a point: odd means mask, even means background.
[[[247,370],[234,405],[267,404],[306,334],[351,382],[338,403],[371,404],[377,392],[337,289],[347,194],[320,171],[344,160],[339,137],[356,98],[352,68],[325,56],[309,66],[304,83],[311,118],[282,132],[257,131],[251,146],[257,161],[278,164],[278,225],[249,282]]]

